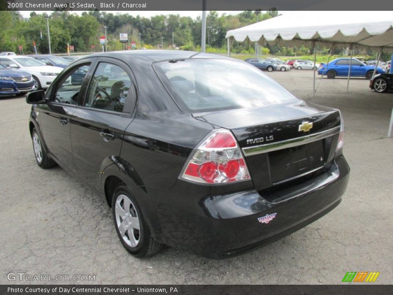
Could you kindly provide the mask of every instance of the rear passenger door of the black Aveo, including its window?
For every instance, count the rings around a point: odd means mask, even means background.
[[[71,142],[80,177],[100,189],[103,170],[120,155],[136,103],[135,79],[118,59],[99,58],[83,106],[73,117]]]

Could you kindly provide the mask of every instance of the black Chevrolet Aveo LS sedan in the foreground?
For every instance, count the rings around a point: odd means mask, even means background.
[[[339,111],[244,61],[96,54],[27,101],[37,164],[102,194],[137,257],[162,244],[215,259],[247,252],[332,210],[348,183]]]

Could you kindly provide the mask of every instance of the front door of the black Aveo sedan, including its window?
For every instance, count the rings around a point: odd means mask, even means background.
[[[71,147],[72,114],[78,108],[83,83],[71,84],[71,76],[77,71],[87,72],[90,62],[69,70],[60,81],[48,89],[49,101],[40,108],[39,120],[42,136],[51,156],[61,166],[75,172]]]

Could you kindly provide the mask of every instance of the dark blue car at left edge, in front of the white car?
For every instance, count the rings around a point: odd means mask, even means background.
[[[0,64],[0,96],[26,94],[33,85],[34,81],[29,73],[8,69]]]

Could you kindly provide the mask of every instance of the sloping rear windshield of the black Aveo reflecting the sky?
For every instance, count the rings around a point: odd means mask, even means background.
[[[251,64],[226,59],[183,59],[155,63],[180,107],[191,112],[263,107],[298,99]]]

